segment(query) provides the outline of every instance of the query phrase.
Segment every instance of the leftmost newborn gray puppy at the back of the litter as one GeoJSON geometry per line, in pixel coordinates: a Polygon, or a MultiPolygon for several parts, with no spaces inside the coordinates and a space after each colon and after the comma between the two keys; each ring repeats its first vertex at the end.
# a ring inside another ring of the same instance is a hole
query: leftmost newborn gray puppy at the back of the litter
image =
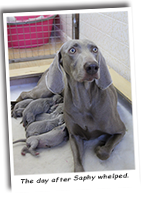
{"type": "Polygon", "coordinates": [[[33,99],[25,99],[23,101],[18,102],[11,111],[11,116],[15,119],[17,117],[22,117],[23,110],[28,106],[28,104],[33,101],[33,99]]]}

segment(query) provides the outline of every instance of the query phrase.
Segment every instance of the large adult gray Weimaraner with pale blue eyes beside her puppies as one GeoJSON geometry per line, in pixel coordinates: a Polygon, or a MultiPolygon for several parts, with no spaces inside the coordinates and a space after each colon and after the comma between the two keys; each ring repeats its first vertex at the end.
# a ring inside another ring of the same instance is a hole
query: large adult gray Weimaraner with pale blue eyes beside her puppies
{"type": "Polygon", "coordinates": [[[101,160],[106,160],[126,131],[117,112],[117,94],[105,59],[93,42],[66,42],[38,86],[29,93],[21,94],[18,100],[24,96],[39,98],[60,94],[63,90],[64,121],[69,132],[74,171],[81,172],[84,171],[85,140],[104,135],[104,140],[95,147],[95,153],[101,160]]]}

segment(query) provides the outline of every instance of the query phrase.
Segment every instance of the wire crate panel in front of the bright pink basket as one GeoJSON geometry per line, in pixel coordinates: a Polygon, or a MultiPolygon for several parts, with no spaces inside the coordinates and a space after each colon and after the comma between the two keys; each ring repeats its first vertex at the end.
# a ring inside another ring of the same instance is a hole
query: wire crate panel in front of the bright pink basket
{"type": "Polygon", "coordinates": [[[61,45],[73,38],[73,16],[7,17],[9,62],[53,58],[61,45]]]}

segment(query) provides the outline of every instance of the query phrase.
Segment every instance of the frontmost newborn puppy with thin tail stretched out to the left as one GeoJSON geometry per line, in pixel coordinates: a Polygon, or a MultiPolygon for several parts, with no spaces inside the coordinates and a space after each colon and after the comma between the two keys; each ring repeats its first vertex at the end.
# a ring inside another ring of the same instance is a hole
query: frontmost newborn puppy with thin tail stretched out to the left
{"type": "Polygon", "coordinates": [[[39,152],[35,151],[36,148],[55,147],[66,140],[68,140],[68,132],[64,123],[45,134],[31,136],[27,140],[17,140],[13,143],[26,142],[26,146],[23,147],[21,154],[31,153],[33,156],[36,156],[39,155],[39,152]]]}

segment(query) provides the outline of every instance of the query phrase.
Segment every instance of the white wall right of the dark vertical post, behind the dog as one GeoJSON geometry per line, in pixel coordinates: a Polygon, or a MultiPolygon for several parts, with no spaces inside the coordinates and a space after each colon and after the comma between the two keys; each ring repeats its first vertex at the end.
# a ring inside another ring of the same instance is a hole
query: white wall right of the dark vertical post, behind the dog
{"type": "Polygon", "coordinates": [[[130,81],[128,12],[80,14],[80,39],[99,46],[107,65],[130,81]]]}

